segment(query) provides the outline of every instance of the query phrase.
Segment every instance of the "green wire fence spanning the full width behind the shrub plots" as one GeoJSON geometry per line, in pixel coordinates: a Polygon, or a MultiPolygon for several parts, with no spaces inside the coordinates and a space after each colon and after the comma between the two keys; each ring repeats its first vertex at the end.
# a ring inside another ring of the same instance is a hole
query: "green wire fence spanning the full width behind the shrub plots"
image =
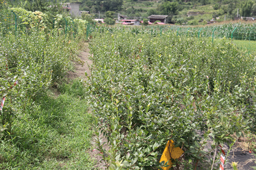
{"type": "MultiPolygon", "coordinates": [[[[41,13],[24,11],[13,11],[8,9],[1,11],[0,33],[3,35],[16,34],[17,32],[29,33],[31,28],[44,31],[57,30],[59,35],[66,38],[76,38],[84,34],[86,38],[93,31],[98,33],[108,30],[110,33],[118,27],[96,26],[96,23],[77,22],[71,17],[62,17],[57,15],[52,18],[46,18],[41,13]]],[[[187,27],[187,26],[142,26],[142,27],[120,27],[120,29],[130,29],[135,34],[148,33],[152,36],[162,35],[164,32],[175,32],[177,36],[212,38],[212,43],[218,42],[220,38],[226,37],[233,41],[238,48],[247,53],[256,52],[256,23],[230,23],[224,25],[215,25],[207,27],[187,27]]]]}

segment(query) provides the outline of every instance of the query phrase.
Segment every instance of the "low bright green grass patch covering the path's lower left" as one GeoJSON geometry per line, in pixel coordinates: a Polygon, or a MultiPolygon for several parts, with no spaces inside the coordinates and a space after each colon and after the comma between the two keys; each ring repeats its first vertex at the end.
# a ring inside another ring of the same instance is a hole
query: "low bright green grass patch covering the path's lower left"
{"type": "Polygon", "coordinates": [[[83,84],[75,80],[35,99],[15,119],[12,132],[0,140],[2,169],[94,169],[92,116],[83,84]]]}

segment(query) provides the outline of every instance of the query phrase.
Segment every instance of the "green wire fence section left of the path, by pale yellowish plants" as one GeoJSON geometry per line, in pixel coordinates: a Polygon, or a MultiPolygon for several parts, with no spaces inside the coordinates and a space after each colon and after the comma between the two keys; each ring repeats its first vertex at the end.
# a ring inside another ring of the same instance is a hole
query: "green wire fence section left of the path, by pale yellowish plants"
{"type": "MultiPolygon", "coordinates": [[[[20,9],[19,9],[20,10],[20,9]]],[[[92,33],[95,24],[89,23],[82,19],[73,20],[71,17],[63,17],[57,15],[47,18],[40,12],[30,12],[24,14],[24,11],[14,12],[11,9],[0,10],[0,34],[2,36],[8,34],[26,33],[32,30],[50,32],[56,30],[59,35],[66,38],[76,38],[77,35],[85,34],[88,38],[92,33]],[[83,22],[82,22],[83,21],[83,22]]]]}

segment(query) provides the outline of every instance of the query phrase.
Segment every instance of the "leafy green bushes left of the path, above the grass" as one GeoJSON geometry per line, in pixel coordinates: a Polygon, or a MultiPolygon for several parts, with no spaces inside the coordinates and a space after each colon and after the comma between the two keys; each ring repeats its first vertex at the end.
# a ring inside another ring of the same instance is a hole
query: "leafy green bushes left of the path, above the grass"
{"type": "Polygon", "coordinates": [[[31,30],[30,35],[0,36],[0,96],[6,96],[2,125],[4,129],[26,109],[36,95],[56,84],[75,59],[75,41],[66,41],[55,31],[51,34],[31,30]],[[11,88],[14,82],[18,84],[11,88]]]}

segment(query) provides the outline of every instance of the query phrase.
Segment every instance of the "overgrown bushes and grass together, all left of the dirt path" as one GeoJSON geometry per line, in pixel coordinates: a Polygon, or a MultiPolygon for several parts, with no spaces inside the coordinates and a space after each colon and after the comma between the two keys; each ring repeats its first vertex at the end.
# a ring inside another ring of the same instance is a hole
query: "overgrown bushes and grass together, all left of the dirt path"
{"type": "Polygon", "coordinates": [[[65,35],[62,15],[50,22],[48,14],[0,4],[1,169],[94,169],[83,82],[63,81],[79,61],[87,22],[74,19],[76,30],[65,35]]]}

